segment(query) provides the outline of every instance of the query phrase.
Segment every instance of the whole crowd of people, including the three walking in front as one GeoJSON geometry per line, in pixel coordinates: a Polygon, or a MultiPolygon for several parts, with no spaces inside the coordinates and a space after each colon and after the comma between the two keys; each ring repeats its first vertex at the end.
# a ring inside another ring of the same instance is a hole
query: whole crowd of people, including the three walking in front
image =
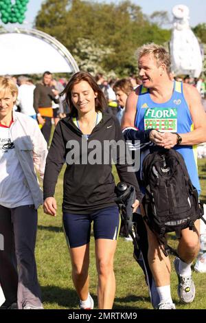
{"type": "MultiPolygon", "coordinates": [[[[185,159],[192,184],[200,193],[194,146],[206,142],[201,101],[205,87],[202,79],[196,83],[188,77],[174,79],[170,55],[159,45],[141,47],[138,66],[138,77],[108,82],[102,74],[93,78],[83,71],[73,74],[69,82],[55,80],[45,71],[36,86],[25,76],[18,78],[18,85],[7,76],[0,78],[0,234],[4,237],[0,283],[5,296],[1,309],[43,309],[34,256],[37,210],[43,204],[45,214],[57,215],[55,188],[65,163],[62,226],[79,306],[94,307],[88,274],[93,222],[98,308],[113,308],[113,260],[121,226],[113,162],[119,179],[135,188],[133,213],[141,221],[140,240],[142,237],[148,243],[144,272],[152,276],[148,283],[152,305],[175,309],[170,259],[142,219],[145,186],[141,165],[152,151],[173,148],[185,159]],[[55,131],[49,146],[52,120],[55,131]],[[131,171],[126,148],[127,141],[135,140],[140,142],[138,172],[131,171]],[[105,146],[106,142],[113,145],[105,146]],[[43,192],[36,170],[43,179],[43,192]]],[[[191,265],[199,247],[197,220],[195,230],[182,230],[174,260],[178,295],[185,304],[195,298],[191,265]]]]}

